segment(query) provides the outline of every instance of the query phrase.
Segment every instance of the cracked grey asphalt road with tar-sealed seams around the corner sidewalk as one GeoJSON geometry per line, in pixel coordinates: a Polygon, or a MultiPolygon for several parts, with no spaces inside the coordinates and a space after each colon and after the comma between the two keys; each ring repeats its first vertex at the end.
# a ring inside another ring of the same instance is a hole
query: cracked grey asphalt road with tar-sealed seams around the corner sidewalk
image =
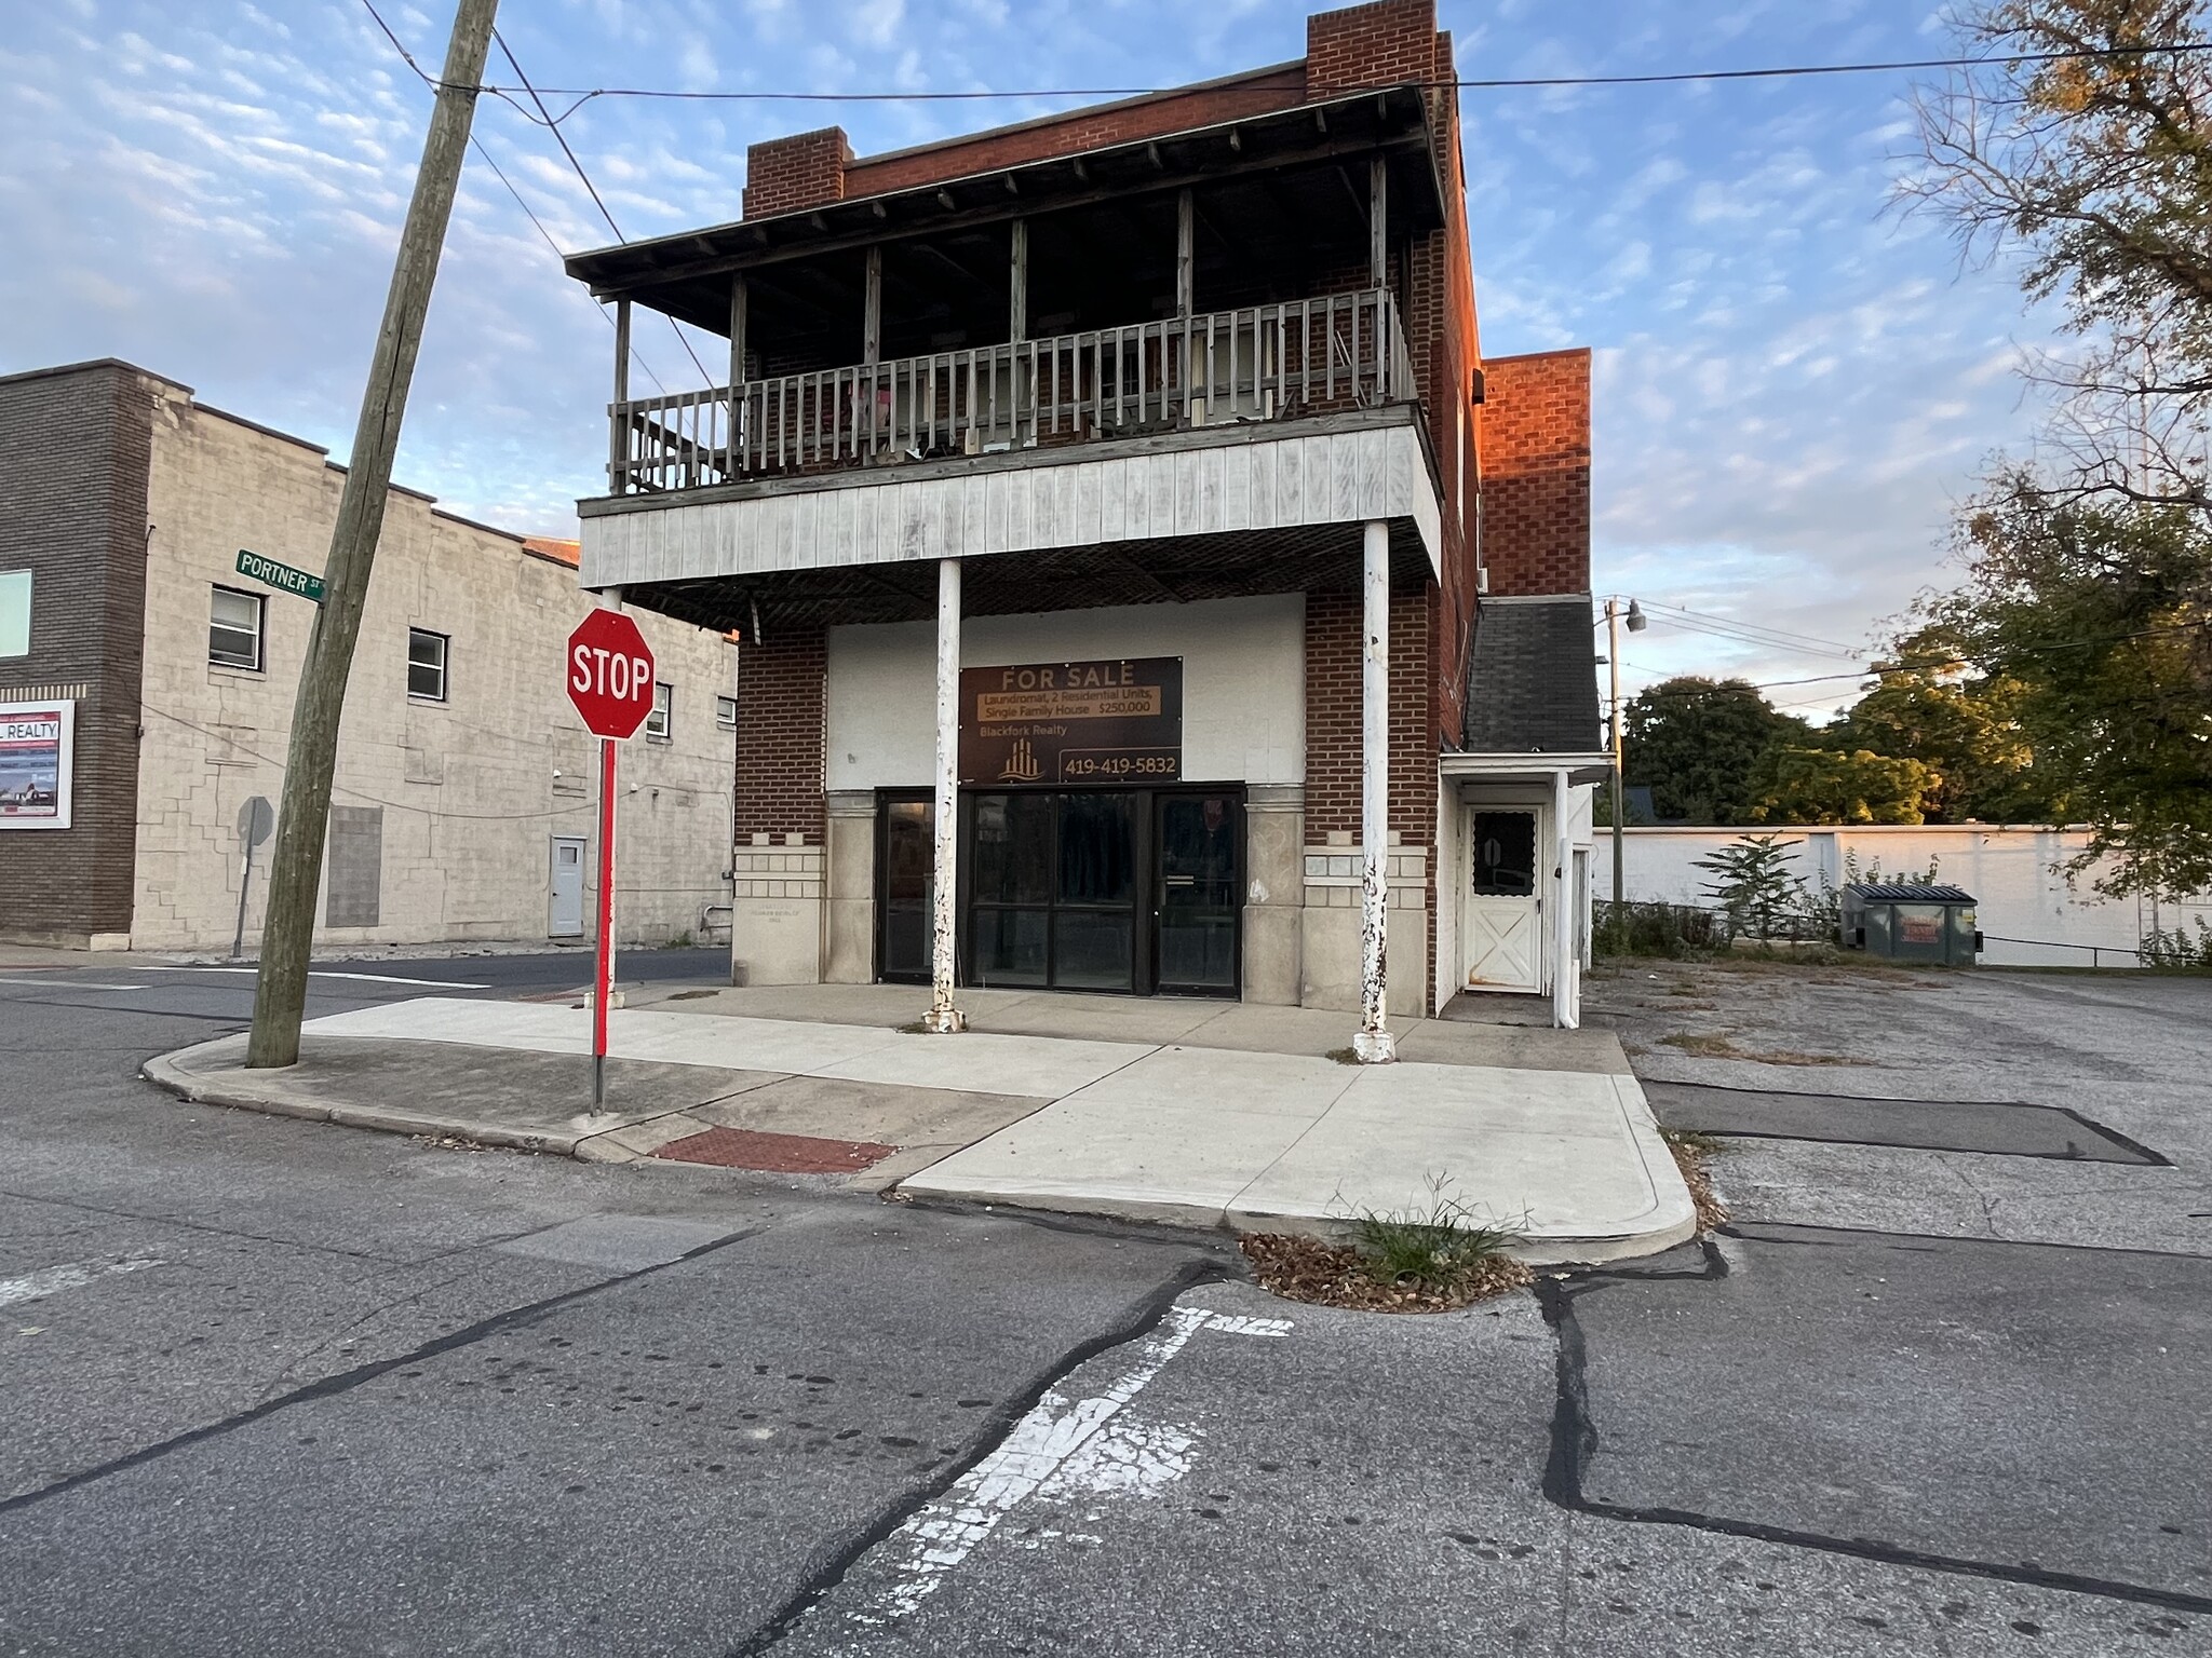
{"type": "Polygon", "coordinates": [[[0,1654],[2212,1651],[2201,1253],[1767,1214],[1334,1313],[1197,1236],[135,1079],[248,995],[0,968],[0,1654]]]}

